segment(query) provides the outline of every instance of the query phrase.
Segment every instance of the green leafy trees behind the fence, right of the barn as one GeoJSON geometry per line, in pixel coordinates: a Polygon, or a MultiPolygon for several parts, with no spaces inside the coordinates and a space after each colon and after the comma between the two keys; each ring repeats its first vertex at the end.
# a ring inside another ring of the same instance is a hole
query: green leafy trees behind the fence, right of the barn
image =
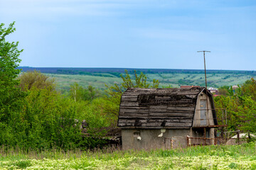
{"type": "MultiPolygon", "coordinates": [[[[256,82],[254,79],[245,81],[235,90],[228,89],[228,96],[214,98],[216,108],[227,111],[228,130],[244,130],[256,132],[256,82]]],[[[218,113],[219,123],[222,124],[222,114],[218,113]]],[[[225,120],[224,120],[225,122],[225,120]]]]}

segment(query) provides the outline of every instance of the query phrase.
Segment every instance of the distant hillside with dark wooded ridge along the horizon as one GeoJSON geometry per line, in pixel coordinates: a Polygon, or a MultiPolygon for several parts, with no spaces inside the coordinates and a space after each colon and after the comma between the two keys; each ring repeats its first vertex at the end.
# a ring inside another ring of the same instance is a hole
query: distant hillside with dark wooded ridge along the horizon
{"type": "MultiPolygon", "coordinates": [[[[120,74],[124,74],[125,68],[63,68],[63,67],[19,67],[23,72],[34,69],[54,78],[57,89],[68,91],[74,82],[80,86],[95,86],[98,89],[106,89],[105,84],[121,84],[120,74]]],[[[129,72],[134,79],[134,70],[146,74],[147,80],[151,82],[158,79],[159,87],[179,87],[181,85],[205,86],[203,69],[130,69],[129,72]]],[[[239,70],[207,70],[208,86],[233,86],[243,84],[247,79],[256,77],[256,71],[239,70]]]]}

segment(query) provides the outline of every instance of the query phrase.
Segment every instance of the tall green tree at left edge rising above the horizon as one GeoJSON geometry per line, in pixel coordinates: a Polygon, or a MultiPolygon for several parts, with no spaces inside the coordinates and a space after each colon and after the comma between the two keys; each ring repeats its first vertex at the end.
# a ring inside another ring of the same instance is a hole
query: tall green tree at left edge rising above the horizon
{"type": "Polygon", "coordinates": [[[17,67],[23,50],[18,50],[18,42],[6,41],[14,30],[14,23],[8,28],[0,24],[0,145],[15,143],[15,135],[22,131],[19,111],[26,94],[18,87],[16,78],[21,72],[17,67]]]}

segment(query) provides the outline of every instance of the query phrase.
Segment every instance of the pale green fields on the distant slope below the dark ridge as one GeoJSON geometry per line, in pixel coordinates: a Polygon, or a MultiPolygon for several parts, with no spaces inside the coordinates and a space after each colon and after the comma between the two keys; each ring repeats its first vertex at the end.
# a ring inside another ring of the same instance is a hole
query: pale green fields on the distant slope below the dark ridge
{"type": "MultiPolygon", "coordinates": [[[[106,89],[105,84],[120,84],[122,79],[118,75],[110,73],[101,73],[93,75],[80,74],[46,74],[50,78],[54,78],[57,83],[58,90],[68,90],[74,82],[80,86],[92,85],[97,89],[106,89]]],[[[181,85],[205,86],[204,74],[186,74],[186,73],[167,73],[167,74],[146,74],[148,81],[159,79],[160,88],[171,85],[179,87],[181,85]]],[[[247,79],[251,79],[254,75],[250,74],[207,74],[208,87],[233,86],[243,84],[247,79]]],[[[132,76],[134,78],[134,76],[132,76]]]]}

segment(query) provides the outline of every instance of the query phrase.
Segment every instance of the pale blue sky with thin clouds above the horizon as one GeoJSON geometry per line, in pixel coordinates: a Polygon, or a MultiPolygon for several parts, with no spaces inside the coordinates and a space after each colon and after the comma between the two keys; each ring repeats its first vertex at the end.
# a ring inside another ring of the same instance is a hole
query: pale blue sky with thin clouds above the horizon
{"type": "Polygon", "coordinates": [[[0,0],[20,66],[256,70],[255,0],[0,0]]]}

